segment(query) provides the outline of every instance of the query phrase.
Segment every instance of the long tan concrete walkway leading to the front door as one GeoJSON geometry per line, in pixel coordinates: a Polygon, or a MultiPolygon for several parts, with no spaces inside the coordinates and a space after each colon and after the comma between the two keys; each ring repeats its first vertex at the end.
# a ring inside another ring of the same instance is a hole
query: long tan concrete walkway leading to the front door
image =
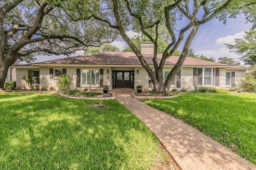
{"type": "Polygon", "coordinates": [[[155,133],[181,169],[256,169],[244,158],[177,118],[141,103],[131,95],[115,95],[155,133]]]}

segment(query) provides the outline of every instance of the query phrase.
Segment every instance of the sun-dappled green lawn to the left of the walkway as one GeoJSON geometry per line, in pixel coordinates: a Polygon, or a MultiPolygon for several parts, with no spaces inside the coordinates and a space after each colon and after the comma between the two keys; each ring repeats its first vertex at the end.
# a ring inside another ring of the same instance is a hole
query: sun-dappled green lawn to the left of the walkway
{"type": "Polygon", "coordinates": [[[0,169],[150,169],[167,159],[116,100],[6,92],[0,108],[0,169]]]}

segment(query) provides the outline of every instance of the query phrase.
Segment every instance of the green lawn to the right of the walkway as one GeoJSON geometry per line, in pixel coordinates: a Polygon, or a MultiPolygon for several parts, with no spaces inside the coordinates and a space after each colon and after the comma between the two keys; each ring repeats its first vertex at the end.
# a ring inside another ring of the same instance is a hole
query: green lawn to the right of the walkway
{"type": "Polygon", "coordinates": [[[256,94],[182,94],[145,99],[181,118],[256,165],[256,94]]]}

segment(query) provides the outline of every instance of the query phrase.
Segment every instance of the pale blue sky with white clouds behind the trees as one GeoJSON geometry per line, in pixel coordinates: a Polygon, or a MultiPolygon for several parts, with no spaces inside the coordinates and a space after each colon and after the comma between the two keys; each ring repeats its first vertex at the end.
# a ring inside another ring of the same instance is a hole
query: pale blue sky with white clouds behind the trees
{"type": "MultiPolygon", "coordinates": [[[[229,19],[226,24],[223,24],[217,19],[212,19],[211,21],[205,23],[199,29],[196,37],[194,38],[191,48],[195,50],[195,54],[205,55],[207,57],[232,57],[238,58],[235,53],[229,52],[224,43],[233,44],[235,38],[242,38],[244,36],[244,31],[247,31],[251,28],[250,23],[245,23],[243,15],[237,16],[236,19],[229,19]]],[[[137,35],[133,31],[128,31],[127,35],[130,38],[137,35]]],[[[123,39],[119,39],[112,43],[117,46],[119,49],[124,49],[127,47],[127,44],[123,39]]],[[[182,49],[182,45],[178,48],[182,49]]],[[[83,55],[82,51],[76,52],[72,56],[83,55]]],[[[67,56],[37,56],[37,61],[47,61],[54,60],[58,58],[64,58],[67,56]]]]}

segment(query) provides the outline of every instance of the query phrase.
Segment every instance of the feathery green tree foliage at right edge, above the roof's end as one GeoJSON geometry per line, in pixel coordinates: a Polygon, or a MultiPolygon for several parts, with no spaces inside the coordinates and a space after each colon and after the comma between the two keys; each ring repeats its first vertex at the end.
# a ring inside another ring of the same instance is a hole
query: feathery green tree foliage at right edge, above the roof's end
{"type": "Polygon", "coordinates": [[[226,46],[236,54],[242,55],[241,60],[246,65],[256,65],[256,29],[250,29],[245,34],[243,38],[235,40],[235,45],[226,44],[226,46]]]}

